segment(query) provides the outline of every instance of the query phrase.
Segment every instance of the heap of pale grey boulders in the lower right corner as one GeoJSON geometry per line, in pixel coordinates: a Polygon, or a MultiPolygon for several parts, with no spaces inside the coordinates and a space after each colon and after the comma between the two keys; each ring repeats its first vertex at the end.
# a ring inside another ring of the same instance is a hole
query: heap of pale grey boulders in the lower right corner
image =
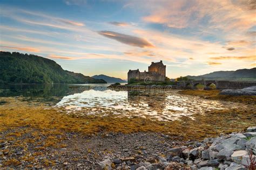
{"type": "Polygon", "coordinates": [[[188,142],[171,148],[165,155],[148,157],[139,162],[135,157],[105,159],[99,162],[105,169],[250,169],[256,167],[256,126],[245,133],[231,133],[201,142],[188,142]],[[164,157],[165,156],[165,157],[164,157]],[[118,163],[118,164],[117,164],[118,163]],[[117,164],[117,167],[116,167],[117,164]]]}

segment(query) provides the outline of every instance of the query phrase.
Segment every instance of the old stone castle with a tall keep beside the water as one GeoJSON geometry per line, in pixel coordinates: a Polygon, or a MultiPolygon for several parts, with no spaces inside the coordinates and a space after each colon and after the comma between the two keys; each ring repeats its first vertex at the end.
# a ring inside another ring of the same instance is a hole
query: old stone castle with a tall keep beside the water
{"type": "Polygon", "coordinates": [[[152,62],[149,66],[149,71],[140,72],[139,69],[129,70],[128,72],[128,82],[131,79],[136,80],[146,80],[149,79],[151,81],[165,81],[165,69],[166,66],[163,64],[163,61],[160,62],[152,62]]]}

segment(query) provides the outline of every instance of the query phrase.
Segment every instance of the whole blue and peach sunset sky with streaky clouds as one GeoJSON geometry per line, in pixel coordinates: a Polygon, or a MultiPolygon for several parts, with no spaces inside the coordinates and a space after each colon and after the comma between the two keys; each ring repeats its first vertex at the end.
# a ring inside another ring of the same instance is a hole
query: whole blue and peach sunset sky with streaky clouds
{"type": "Polygon", "coordinates": [[[0,0],[0,50],[127,79],[163,60],[166,76],[256,67],[255,0],[0,0]]]}

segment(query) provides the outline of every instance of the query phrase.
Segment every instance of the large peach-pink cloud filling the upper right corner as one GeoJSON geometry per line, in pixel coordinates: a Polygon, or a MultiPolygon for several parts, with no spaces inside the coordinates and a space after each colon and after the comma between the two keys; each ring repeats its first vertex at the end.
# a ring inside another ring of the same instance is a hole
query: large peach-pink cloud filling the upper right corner
{"type": "MultiPolygon", "coordinates": [[[[220,31],[247,31],[255,25],[255,0],[248,1],[129,1],[128,8],[140,8],[148,15],[147,23],[163,24],[175,29],[197,28],[218,34],[220,31]]],[[[218,34],[219,36],[219,34],[218,34]]]]}

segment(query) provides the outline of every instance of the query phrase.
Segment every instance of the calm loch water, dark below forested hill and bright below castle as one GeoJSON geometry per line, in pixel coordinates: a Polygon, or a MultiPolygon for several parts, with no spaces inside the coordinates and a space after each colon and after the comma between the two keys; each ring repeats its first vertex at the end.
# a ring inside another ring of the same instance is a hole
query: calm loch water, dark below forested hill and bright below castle
{"type": "MultiPolygon", "coordinates": [[[[140,116],[161,121],[247,105],[178,94],[178,90],[115,91],[109,84],[27,84],[0,86],[0,97],[65,108],[78,115],[140,116]]],[[[4,101],[2,101],[4,103],[4,101]]],[[[1,103],[0,103],[1,104],[1,103]]],[[[192,117],[193,118],[193,117],[192,117]]]]}

